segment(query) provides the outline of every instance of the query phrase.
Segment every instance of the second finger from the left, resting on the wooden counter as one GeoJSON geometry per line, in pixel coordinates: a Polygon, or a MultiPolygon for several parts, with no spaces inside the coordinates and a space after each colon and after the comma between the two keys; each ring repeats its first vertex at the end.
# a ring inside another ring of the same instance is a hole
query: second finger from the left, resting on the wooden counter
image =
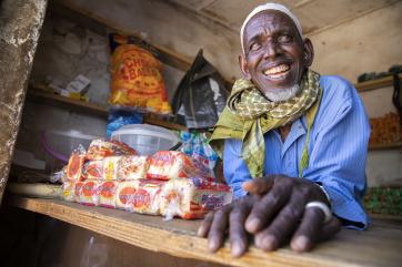
{"type": "Polygon", "coordinates": [[[217,251],[223,245],[225,230],[229,223],[230,208],[224,207],[214,213],[212,224],[208,234],[208,249],[217,251]]]}

